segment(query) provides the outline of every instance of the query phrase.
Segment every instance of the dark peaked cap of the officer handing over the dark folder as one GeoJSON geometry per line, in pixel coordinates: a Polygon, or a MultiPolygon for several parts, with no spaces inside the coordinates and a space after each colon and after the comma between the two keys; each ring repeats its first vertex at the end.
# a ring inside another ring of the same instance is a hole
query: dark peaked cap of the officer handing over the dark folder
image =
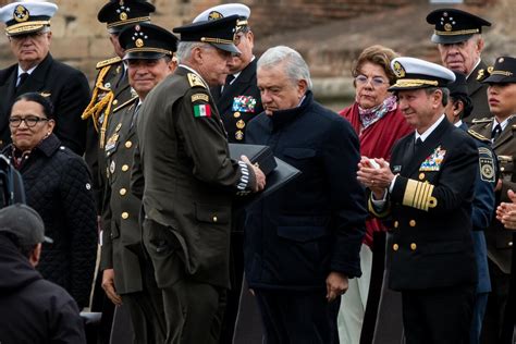
{"type": "Polygon", "coordinates": [[[241,53],[235,46],[235,33],[238,15],[230,15],[217,21],[192,23],[174,27],[181,35],[181,41],[201,41],[232,53],[241,53]]]}

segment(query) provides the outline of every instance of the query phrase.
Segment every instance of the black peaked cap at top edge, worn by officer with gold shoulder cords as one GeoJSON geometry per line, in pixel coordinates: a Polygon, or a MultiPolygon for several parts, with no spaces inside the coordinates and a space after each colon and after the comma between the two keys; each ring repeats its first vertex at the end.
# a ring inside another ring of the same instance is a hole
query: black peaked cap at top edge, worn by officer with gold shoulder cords
{"type": "Polygon", "coordinates": [[[100,9],[97,19],[107,24],[110,34],[119,34],[127,26],[150,22],[155,11],[155,5],[147,1],[111,0],[100,9]]]}

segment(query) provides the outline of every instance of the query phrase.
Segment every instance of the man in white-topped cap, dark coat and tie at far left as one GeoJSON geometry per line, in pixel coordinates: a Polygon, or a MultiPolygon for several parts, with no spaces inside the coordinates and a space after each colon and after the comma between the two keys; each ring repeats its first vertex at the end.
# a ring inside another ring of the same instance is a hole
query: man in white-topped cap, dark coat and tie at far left
{"type": "Polygon", "coordinates": [[[50,19],[58,7],[41,1],[13,2],[0,10],[17,63],[0,71],[0,147],[11,143],[9,111],[13,100],[37,91],[50,97],[56,113],[54,133],[64,146],[83,155],[86,125],[81,114],[89,99],[86,76],[50,54],[50,19]]]}

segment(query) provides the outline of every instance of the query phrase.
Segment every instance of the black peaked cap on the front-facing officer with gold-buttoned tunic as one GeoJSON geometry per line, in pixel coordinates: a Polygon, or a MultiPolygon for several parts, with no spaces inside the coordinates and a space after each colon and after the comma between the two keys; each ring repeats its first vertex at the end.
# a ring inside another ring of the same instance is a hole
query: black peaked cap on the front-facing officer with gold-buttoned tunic
{"type": "Polygon", "coordinates": [[[177,37],[171,32],[150,23],[136,24],[124,28],[120,33],[119,41],[125,50],[124,60],[157,60],[165,56],[172,58],[177,50],[177,37]]]}

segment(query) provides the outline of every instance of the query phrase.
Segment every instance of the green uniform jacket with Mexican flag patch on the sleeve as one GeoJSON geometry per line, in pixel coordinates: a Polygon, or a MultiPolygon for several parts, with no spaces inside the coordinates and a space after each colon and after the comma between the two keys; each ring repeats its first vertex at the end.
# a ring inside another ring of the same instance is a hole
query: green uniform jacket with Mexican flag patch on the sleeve
{"type": "Polygon", "coordinates": [[[230,159],[216,105],[194,70],[180,65],[140,111],[132,188],[143,195],[146,218],[168,229],[146,242],[158,286],[177,277],[157,262],[179,257],[192,279],[228,287],[232,201],[249,192],[254,172],[230,159]],[[170,237],[174,249],[163,250],[170,237]]]}

